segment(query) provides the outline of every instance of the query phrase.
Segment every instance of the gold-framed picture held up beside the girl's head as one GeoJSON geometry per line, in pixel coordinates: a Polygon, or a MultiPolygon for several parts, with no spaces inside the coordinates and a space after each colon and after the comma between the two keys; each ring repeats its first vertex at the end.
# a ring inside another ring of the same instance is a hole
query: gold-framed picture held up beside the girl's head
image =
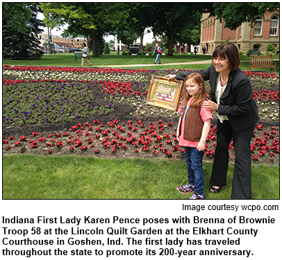
{"type": "Polygon", "coordinates": [[[183,85],[183,80],[168,81],[167,78],[152,76],[146,103],[177,111],[183,85]]]}

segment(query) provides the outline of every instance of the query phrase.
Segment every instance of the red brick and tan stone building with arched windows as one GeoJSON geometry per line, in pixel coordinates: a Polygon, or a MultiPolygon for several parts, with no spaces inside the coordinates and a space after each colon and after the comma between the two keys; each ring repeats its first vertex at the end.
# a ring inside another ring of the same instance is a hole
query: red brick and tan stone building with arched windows
{"type": "Polygon", "coordinates": [[[267,10],[263,17],[256,19],[253,26],[243,23],[235,31],[224,28],[224,21],[220,23],[215,17],[210,17],[208,13],[203,14],[200,50],[205,46],[206,53],[211,54],[219,44],[229,40],[243,53],[250,49],[260,50],[265,54],[267,44],[272,43],[276,48],[279,46],[279,14],[279,10],[274,12],[267,10]]]}

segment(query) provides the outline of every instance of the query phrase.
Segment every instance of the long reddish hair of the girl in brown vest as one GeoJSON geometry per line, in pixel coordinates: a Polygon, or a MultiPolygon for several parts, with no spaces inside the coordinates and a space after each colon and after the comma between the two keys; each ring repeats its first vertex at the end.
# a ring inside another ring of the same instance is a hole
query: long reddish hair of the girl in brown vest
{"type": "MultiPolygon", "coordinates": [[[[194,101],[190,105],[190,107],[197,107],[199,105],[199,103],[204,101],[206,98],[209,98],[208,95],[206,94],[204,77],[201,76],[200,73],[196,72],[196,73],[191,73],[190,75],[188,75],[184,80],[184,84],[186,83],[187,80],[192,80],[194,83],[198,84],[199,87],[200,87],[199,91],[197,92],[197,94],[194,98],[194,101]]],[[[191,95],[189,94],[189,92],[187,91],[187,89],[185,87],[183,104],[186,104],[188,102],[189,98],[191,98],[191,95]]]]}

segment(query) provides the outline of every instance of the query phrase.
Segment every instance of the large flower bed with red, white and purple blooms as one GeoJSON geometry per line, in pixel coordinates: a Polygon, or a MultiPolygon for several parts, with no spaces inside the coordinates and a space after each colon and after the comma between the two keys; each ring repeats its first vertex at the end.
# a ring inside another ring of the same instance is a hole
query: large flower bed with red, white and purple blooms
{"type": "MultiPolygon", "coordinates": [[[[168,73],[176,71],[3,65],[3,154],[183,159],[175,136],[178,114],[145,103],[151,76],[168,73]]],[[[278,165],[279,77],[245,73],[260,114],[253,162],[278,165]]],[[[207,161],[216,146],[215,118],[207,161]]],[[[232,144],[229,155],[234,162],[232,144]]]]}

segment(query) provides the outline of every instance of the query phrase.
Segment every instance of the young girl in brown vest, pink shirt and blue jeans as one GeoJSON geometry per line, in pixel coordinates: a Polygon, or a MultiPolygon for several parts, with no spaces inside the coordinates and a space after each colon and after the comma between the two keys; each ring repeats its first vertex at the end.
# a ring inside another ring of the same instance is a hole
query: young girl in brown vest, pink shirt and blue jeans
{"type": "Polygon", "coordinates": [[[193,192],[192,200],[204,199],[203,156],[206,138],[210,130],[211,111],[203,106],[207,98],[204,78],[200,73],[192,73],[184,80],[185,94],[179,107],[177,139],[185,148],[188,166],[188,184],[178,187],[181,193],[193,192]]]}

